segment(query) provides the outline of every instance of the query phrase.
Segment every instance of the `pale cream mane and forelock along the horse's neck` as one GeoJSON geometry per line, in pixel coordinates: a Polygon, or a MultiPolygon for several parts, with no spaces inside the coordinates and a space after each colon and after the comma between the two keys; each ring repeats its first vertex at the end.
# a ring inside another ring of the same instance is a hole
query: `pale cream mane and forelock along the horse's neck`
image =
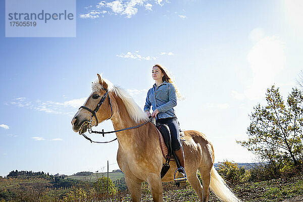
{"type": "MultiPolygon", "coordinates": [[[[124,103],[124,106],[126,108],[126,111],[129,115],[129,117],[138,124],[140,121],[147,121],[148,117],[146,114],[142,111],[142,109],[135,103],[133,98],[129,95],[128,92],[126,92],[124,89],[122,89],[119,86],[114,86],[110,81],[103,78],[103,80],[108,85],[109,92],[114,92],[116,96],[120,97],[122,99],[122,102],[124,103]]],[[[99,83],[98,80],[93,82],[91,84],[92,91],[99,92],[104,87],[99,83]]]]}

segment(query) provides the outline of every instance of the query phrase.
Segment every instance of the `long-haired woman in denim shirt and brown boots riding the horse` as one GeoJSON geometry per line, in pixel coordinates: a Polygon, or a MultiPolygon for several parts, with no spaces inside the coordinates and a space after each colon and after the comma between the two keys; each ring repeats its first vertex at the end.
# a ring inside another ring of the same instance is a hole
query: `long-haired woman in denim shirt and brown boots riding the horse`
{"type": "Polygon", "coordinates": [[[178,171],[181,176],[179,176],[184,178],[186,177],[184,153],[182,144],[180,143],[178,120],[173,108],[177,105],[177,97],[181,98],[182,96],[164,67],[155,65],[151,73],[156,83],[147,92],[144,112],[148,117],[156,117],[157,123],[168,125],[171,133],[172,148],[180,163],[178,171]],[[149,110],[151,105],[153,106],[153,113],[150,115],[149,110]]]}

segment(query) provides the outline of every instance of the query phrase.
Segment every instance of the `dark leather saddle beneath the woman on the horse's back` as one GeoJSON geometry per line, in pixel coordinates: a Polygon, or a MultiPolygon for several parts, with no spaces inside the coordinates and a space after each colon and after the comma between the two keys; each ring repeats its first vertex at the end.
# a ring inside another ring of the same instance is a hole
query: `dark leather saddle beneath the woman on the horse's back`
{"type": "MultiPolygon", "coordinates": [[[[176,158],[175,158],[174,151],[172,149],[171,135],[170,135],[169,127],[166,124],[158,124],[158,123],[155,126],[157,128],[157,132],[158,132],[158,136],[159,136],[162,155],[166,161],[165,164],[163,164],[162,170],[161,170],[161,178],[163,178],[165,176],[165,174],[168,172],[168,170],[170,169],[169,162],[171,160],[176,160],[176,158]]],[[[184,136],[183,131],[180,131],[180,137],[181,137],[181,134],[183,134],[183,136],[184,136]]],[[[184,139],[180,139],[180,140],[185,141],[184,139]]]]}

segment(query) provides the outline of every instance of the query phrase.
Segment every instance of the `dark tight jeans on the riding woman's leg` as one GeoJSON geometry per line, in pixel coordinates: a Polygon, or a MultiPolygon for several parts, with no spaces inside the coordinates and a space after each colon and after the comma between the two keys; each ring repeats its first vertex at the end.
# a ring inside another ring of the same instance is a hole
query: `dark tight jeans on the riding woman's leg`
{"type": "Polygon", "coordinates": [[[168,125],[172,139],[172,148],[174,151],[179,150],[181,148],[181,143],[177,117],[157,119],[156,122],[168,125]]]}

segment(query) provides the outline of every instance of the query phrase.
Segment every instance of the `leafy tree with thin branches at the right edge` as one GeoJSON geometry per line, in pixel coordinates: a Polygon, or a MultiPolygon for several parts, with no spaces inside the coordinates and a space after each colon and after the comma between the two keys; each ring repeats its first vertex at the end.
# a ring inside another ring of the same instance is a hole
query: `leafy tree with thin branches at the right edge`
{"type": "Polygon", "coordinates": [[[287,98],[287,107],[279,88],[267,89],[267,106],[258,104],[249,116],[248,140],[237,141],[262,160],[269,161],[277,173],[279,164],[290,162],[301,169],[302,164],[302,115],[303,95],[297,88],[287,98]]]}

